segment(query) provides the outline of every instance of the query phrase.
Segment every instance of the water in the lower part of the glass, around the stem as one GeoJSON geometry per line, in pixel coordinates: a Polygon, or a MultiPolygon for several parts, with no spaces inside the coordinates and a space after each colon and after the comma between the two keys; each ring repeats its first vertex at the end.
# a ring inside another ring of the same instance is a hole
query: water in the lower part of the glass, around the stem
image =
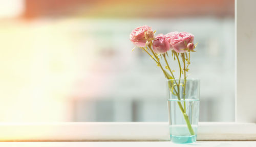
{"type": "Polygon", "coordinates": [[[174,143],[196,142],[199,117],[199,100],[185,99],[185,101],[179,101],[169,99],[167,102],[170,140],[174,143]],[[184,118],[181,106],[188,117],[189,123],[187,123],[184,118]],[[188,129],[188,124],[190,125],[190,130],[188,129]]]}

